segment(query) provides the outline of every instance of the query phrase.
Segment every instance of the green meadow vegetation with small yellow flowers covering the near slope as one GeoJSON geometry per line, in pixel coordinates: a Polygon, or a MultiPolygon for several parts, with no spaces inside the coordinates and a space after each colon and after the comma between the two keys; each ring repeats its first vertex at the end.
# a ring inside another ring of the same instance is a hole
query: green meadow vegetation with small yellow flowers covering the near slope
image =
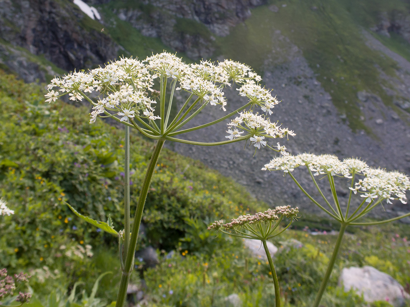
{"type": "MultiPolygon", "coordinates": [[[[121,278],[112,248],[116,238],[82,222],[63,201],[97,219],[110,214],[116,230],[122,228],[123,131],[103,121],[88,124],[84,108],[44,104],[39,86],[5,74],[0,81],[0,193],[15,210],[10,217],[0,216],[0,266],[32,275],[34,299],[28,307],[106,306],[115,300],[121,278]],[[112,273],[102,276],[105,272],[112,273]]],[[[133,205],[153,143],[135,135],[131,141],[133,205]]],[[[143,273],[149,305],[219,306],[238,293],[244,306],[272,306],[266,262],[252,257],[240,239],[215,237],[206,229],[215,219],[264,208],[232,180],[164,149],[146,203],[146,234],[139,242],[160,254],[159,266],[143,273]],[[168,251],[174,255],[163,257],[168,251]]],[[[301,214],[306,218],[295,223],[296,229],[333,229],[329,221],[301,214]]],[[[353,230],[342,244],[324,305],[367,306],[337,286],[346,266],[371,265],[405,287],[410,284],[408,225],[348,229],[353,230]]],[[[335,239],[288,230],[273,242],[281,251],[274,262],[285,306],[312,304],[335,239]]],[[[142,264],[136,262],[139,268],[142,264]]],[[[140,284],[138,275],[132,275],[133,284],[140,284]]]]}

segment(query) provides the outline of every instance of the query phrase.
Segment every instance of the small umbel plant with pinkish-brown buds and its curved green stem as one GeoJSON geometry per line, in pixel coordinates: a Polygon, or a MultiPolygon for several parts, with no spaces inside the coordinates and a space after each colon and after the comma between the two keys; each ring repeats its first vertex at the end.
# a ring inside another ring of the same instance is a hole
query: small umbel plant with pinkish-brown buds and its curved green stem
{"type": "Polygon", "coordinates": [[[215,221],[208,230],[216,230],[234,237],[260,240],[263,244],[266,257],[268,258],[269,267],[271,269],[273,285],[275,287],[275,306],[280,307],[280,288],[278,276],[276,275],[275,266],[271,253],[269,252],[266,241],[280,235],[292,224],[299,213],[298,208],[290,208],[290,206],[280,206],[274,209],[268,209],[265,212],[258,212],[255,215],[241,215],[237,219],[232,219],[229,223],[224,224],[223,220],[215,221]],[[287,226],[278,230],[278,226],[283,217],[289,219],[287,226]]]}

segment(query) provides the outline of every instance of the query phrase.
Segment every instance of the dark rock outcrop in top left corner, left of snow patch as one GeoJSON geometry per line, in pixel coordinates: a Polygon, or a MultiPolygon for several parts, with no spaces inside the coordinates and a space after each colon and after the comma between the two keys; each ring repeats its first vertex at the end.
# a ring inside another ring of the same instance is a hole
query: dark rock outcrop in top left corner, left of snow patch
{"type": "MultiPolygon", "coordinates": [[[[0,0],[0,7],[2,50],[25,48],[33,56],[40,56],[66,71],[96,66],[117,55],[119,46],[100,32],[103,26],[72,2],[0,0]]],[[[10,56],[1,52],[2,63],[7,65],[13,61],[13,54],[10,56]]],[[[35,61],[29,54],[25,62],[35,61]]],[[[25,65],[25,69],[30,70],[30,65],[25,65]]],[[[24,77],[19,65],[10,68],[24,77]]],[[[35,69],[32,70],[35,74],[35,69]]],[[[38,77],[46,81],[41,75],[38,77]]]]}

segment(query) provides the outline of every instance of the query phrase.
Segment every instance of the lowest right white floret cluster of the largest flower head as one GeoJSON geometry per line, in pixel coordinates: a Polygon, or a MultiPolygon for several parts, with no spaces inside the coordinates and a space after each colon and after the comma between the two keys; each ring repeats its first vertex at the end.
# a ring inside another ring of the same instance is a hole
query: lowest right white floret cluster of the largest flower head
{"type": "MultiPolygon", "coordinates": [[[[244,131],[247,131],[248,135],[252,135],[250,140],[253,146],[260,149],[260,147],[265,147],[267,144],[266,141],[264,141],[265,137],[284,138],[285,136],[295,135],[292,130],[281,128],[280,126],[278,122],[271,122],[269,117],[254,114],[251,111],[244,111],[239,113],[239,116],[228,124],[229,130],[227,132],[229,135],[225,136],[225,138],[233,140],[241,136],[244,131]],[[239,131],[239,129],[243,130],[239,131]]],[[[278,148],[277,151],[280,151],[283,155],[287,155],[288,153],[285,151],[286,147],[280,146],[279,143],[277,144],[278,146],[274,146],[278,148]]]]}

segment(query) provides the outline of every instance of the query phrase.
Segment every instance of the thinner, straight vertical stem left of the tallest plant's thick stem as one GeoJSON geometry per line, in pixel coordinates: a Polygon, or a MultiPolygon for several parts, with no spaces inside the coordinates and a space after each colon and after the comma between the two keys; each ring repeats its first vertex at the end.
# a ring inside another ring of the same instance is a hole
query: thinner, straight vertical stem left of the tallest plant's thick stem
{"type": "MultiPolygon", "coordinates": [[[[125,126],[125,161],[124,161],[124,255],[130,245],[130,127],[125,126]]],[[[121,251],[120,251],[121,253],[121,251]]]]}

